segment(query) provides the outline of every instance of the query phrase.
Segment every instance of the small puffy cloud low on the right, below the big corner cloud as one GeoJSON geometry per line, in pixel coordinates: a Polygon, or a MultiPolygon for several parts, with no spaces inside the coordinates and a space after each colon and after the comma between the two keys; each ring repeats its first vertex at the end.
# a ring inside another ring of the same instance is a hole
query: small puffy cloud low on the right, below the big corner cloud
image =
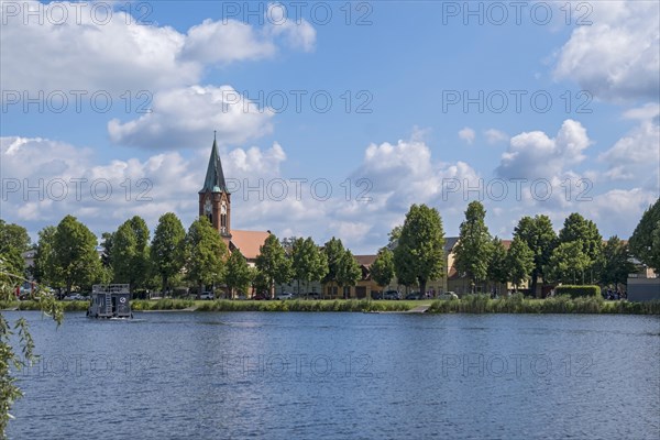
{"type": "Polygon", "coordinates": [[[566,167],[584,161],[583,152],[590,144],[584,127],[568,119],[554,138],[541,131],[524,132],[512,138],[495,172],[509,178],[561,176],[566,167]]]}

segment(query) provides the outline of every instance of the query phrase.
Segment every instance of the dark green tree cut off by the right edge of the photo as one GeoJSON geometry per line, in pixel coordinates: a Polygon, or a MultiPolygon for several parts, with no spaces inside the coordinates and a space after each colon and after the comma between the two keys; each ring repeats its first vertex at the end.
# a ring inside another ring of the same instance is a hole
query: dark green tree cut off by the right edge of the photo
{"type": "Polygon", "coordinates": [[[660,272],[660,199],[644,212],[629,245],[641,263],[660,272]]]}

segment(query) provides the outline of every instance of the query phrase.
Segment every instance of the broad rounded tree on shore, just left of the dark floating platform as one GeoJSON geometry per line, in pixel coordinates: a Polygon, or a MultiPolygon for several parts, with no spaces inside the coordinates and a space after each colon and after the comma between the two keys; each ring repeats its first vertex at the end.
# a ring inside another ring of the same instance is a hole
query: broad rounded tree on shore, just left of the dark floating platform
{"type": "Polygon", "coordinates": [[[51,264],[56,282],[72,292],[74,285],[89,286],[99,279],[101,260],[97,238],[73,216],[66,216],[55,230],[51,264]]]}

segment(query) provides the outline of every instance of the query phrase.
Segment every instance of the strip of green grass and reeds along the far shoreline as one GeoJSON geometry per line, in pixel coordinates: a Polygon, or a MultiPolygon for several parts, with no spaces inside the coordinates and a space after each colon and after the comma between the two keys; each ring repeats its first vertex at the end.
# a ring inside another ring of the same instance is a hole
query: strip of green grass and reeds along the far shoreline
{"type": "MultiPolygon", "coordinates": [[[[87,301],[63,301],[65,311],[85,311],[87,301]]],[[[283,300],[252,301],[227,300],[199,301],[191,299],[136,299],[131,301],[134,311],[183,310],[197,311],[406,311],[430,304],[431,314],[628,314],[660,315],[660,301],[628,302],[606,301],[601,297],[574,298],[561,296],[547,299],[526,299],[522,295],[491,299],[485,295],[466,296],[454,300],[283,300]]],[[[35,301],[0,301],[0,309],[37,310],[35,301]]]]}

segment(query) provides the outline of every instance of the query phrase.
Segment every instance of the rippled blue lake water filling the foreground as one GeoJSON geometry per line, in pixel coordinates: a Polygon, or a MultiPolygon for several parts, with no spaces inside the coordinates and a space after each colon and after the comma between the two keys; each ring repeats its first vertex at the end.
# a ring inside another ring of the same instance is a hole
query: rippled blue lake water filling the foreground
{"type": "Polygon", "coordinates": [[[658,317],[23,315],[11,439],[660,438],[658,317]]]}

